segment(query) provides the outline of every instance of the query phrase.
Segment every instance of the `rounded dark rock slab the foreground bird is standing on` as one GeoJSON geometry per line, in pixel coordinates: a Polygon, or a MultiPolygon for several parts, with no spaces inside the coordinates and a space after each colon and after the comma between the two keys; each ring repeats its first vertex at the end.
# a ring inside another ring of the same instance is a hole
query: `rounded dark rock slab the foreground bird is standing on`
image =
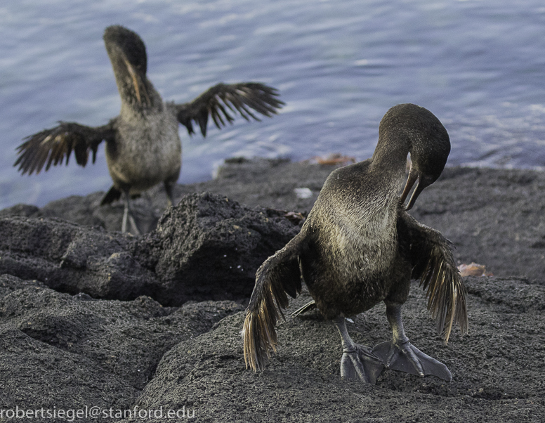
{"type": "MultiPolygon", "coordinates": [[[[376,386],[343,381],[341,338],[317,313],[280,325],[277,355],[263,373],[250,372],[237,332],[244,313],[237,313],[166,353],[137,403],[148,409],[185,406],[201,422],[542,421],[545,287],[498,278],[467,282],[471,332],[464,337],[454,332],[447,346],[416,284],[404,308],[411,341],[442,360],[453,382],[393,370],[383,372],[376,386]]],[[[292,307],[309,299],[302,295],[292,307]]],[[[358,315],[348,330],[368,346],[390,339],[386,307],[358,315]]]]}

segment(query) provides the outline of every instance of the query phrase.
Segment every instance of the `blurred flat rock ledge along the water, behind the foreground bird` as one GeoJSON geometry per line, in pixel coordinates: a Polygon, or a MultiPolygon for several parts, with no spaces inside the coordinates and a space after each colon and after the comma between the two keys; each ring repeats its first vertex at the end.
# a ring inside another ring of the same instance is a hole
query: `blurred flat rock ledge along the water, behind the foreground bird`
{"type": "MultiPolygon", "coordinates": [[[[308,212],[334,167],[287,160],[231,159],[211,181],[177,186],[175,197],[197,192],[225,195],[249,207],[308,212]],[[296,188],[308,188],[298,198],[296,188]]],[[[501,276],[544,280],[545,173],[522,169],[446,168],[416,202],[412,215],[440,230],[457,249],[459,262],[485,264],[501,276]]],[[[42,209],[18,205],[2,214],[57,216],[83,225],[119,230],[123,206],[98,207],[101,193],[69,197],[42,209]],[[79,199],[79,203],[78,203],[79,199]],[[81,205],[77,205],[81,204],[81,205]],[[94,205],[92,205],[94,204],[94,205]]],[[[158,216],[166,196],[162,188],[136,200],[140,214],[158,216]]],[[[151,218],[150,218],[151,219],[151,218]]]]}

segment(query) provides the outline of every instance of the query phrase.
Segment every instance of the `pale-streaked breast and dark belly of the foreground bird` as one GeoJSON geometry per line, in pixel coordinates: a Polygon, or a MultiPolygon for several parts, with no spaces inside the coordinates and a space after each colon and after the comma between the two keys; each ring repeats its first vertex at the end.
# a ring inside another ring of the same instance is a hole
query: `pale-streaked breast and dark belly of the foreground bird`
{"type": "Polygon", "coordinates": [[[354,207],[352,202],[346,210],[344,202],[336,201],[336,207],[324,204],[309,215],[307,230],[315,241],[301,267],[310,293],[327,318],[361,313],[388,295],[398,259],[397,209],[383,200],[385,204],[372,208],[354,207]]]}

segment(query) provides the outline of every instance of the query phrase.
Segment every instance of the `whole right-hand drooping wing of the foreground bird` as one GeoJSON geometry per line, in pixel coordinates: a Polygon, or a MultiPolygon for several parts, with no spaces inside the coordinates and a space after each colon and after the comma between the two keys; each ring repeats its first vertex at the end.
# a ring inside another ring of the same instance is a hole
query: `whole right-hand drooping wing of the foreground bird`
{"type": "Polygon", "coordinates": [[[426,289],[428,310],[447,343],[456,323],[462,333],[468,332],[466,286],[452,256],[452,242],[405,211],[400,214],[400,224],[409,233],[412,278],[426,289]]]}

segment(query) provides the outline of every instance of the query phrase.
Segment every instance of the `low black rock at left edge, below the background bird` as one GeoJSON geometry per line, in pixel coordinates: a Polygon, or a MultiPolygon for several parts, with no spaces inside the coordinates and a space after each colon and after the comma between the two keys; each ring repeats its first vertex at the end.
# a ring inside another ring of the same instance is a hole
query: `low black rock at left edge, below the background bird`
{"type": "Polygon", "coordinates": [[[0,233],[0,273],[107,299],[135,299],[155,282],[129,254],[129,235],[20,216],[0,218],[0,233]]]}

